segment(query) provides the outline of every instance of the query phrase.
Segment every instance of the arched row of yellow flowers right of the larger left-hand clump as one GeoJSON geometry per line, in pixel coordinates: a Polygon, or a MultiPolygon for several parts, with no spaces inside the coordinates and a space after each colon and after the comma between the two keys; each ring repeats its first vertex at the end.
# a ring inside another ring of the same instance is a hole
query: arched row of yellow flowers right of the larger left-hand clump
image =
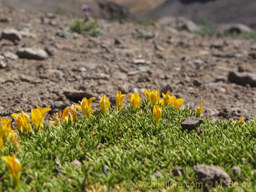
{"type": "MultiPolygon", "coordinates": [[[[179,110],[181,105],[184,102],[184,99],[176,99],[175,96],[171,96],[169,91],[167,91],[166,94],[162,93],[163,99],[160,99],[159,91],[153,90],[152,92],[148,89],[144,91],[146,99],[148,99],[152,105],[153,105],[153,118],[155,122],[159,122],[162,116],[162,106],[173,106],[175,109],[179,110]]],[[[116,93],[116,109],[117,111],[120,110],[125,94],[121,94],[121,92],[116,93]]],[[[129,95],[131,105],[133,106],[134,110],[137,111],[139,108],[141,98],[139,93],[130,93],[129,95]]],[[[86,118],[91,117],[91,107],[92,107],[92,101],[95,100],[95,97],[91,97],[90,99],[87,99],[84,97],[82,101],[79,101],[80,105],[72,105],[68,106],[63,112],[59,112],[53,115],[54,121],[50,121],[51,125],[60,125],[61,119],[67,123],[69,122],[76,122],[77,120],[77,113],[76,109],[80,109],[86,118]]],[[[110,108],[110,100],[106,95],[103,95],[103,97],[100,97],[100,113],[104,115],[106,112],[108,112],[110,108]]],[[[202,113],[202,100],[201,100],[201,106],[200,108],[197,108],[197,117],[200,117],[200,114],[202,113]]]]}

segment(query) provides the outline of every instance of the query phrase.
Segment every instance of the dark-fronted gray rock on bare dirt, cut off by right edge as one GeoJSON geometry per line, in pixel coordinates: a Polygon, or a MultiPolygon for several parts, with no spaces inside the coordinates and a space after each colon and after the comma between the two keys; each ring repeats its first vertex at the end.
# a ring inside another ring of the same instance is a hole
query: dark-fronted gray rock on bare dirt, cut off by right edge
{"type": "Polygon", "coordinates": [[[233,72],[228,73],[228,80],[230,82],[246,86],[249,84],[251,87],[256,87],[256,74],[247,72],[233,72]]]}

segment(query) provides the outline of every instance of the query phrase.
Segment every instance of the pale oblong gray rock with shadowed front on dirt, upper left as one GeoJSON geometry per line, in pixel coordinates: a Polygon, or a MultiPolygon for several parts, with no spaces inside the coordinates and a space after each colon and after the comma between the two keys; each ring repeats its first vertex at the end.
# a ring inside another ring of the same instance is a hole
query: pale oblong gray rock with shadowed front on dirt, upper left
{"type": "Polygon", "coordinates": [[[19,58],[44,60],[48,58],[45,50],[39,48],[20,48],[16,53],[19,58]]]}

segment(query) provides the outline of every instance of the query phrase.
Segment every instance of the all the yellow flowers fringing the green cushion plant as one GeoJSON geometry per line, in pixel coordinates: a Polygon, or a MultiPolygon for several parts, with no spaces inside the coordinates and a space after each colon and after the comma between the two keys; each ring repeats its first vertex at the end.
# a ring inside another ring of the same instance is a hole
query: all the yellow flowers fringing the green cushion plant
{"type": "MultiPolygon", "coordinates": [[[[162,108],[163,106],[173,106],[176,110],[179,110],[181,105],[184,102],[184,99],[176,99],[175,96],[171,96],[167,91],[166,94],[162,93],[163,99],[160,99],[159,91],[157,90],[145,90],[144,91],[146,99],[152,103],[152,116],[155,122],[159,122],[162,117],[162,108]]],[[[121,92],[116,93],[116,110],[117,112],[121,109],[123,104],[125,94],[121,94],[121,92]]],[[[133,106],[135,112],[139,108],[141,98],[139,93],[130,93],[129,95],[131,105],[133,106]]],[[[75,123],[77,121],[77,112],[79,109],[82,111],[84,117],[90,118],[92,116],[91,107],[92,101],[95,100],[95,97],[87,99],[86,97],[79,101],[80,105],[71,105],[68,106],[63,112],[55,113],[52,115],[54,121],[49,121],[50,125],[59,126],[61,119],[66,123],[75,123]]],[[[110,100],[106,95],[100,97],[100,113],[102,115],[106,114],[110,108],[110,100]]],[[[40,106],[37,106],[36,109],[31,110],[31,120],[33,126],[30,123],[30,114],[24,113],[24,111],[20,111],[20,114],[12,114],[11,117],[15,118],[15,126],[16,130],[20,133],[29,133],[32,131],[32,127],[34,130],[44,130],[44,119],[45,114],[51,111],[50,108],[42,109],[40,106]]],[[[202,113],[202,99],[200,108],[196,110],[196,116],[200,117],[202,113]]],[[[12,143],[17,152],[20,151],[18,136],[14,130],[11,129],[11,119],[0,119],[0,150],[4,148],[4,143],[8,142],[12,138],[12,143]]],[[[12,156],[4,156],[2,157],[4,161],[6,161],[11,170],[11,174],[13,177],[14,185],[19,184],[20,174],[22,170],[22,165],[15,155],[12,156]]]]}

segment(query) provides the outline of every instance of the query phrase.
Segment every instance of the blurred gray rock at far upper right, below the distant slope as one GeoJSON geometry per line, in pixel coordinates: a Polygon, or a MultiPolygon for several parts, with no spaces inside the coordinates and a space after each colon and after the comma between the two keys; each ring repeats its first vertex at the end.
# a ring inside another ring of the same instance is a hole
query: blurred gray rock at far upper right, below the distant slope
{"type": "Polygon", "coordinates": [[[243,24],[222,24],[220,26],[221,33],[250,33],[252,29],[243,24]]]}

